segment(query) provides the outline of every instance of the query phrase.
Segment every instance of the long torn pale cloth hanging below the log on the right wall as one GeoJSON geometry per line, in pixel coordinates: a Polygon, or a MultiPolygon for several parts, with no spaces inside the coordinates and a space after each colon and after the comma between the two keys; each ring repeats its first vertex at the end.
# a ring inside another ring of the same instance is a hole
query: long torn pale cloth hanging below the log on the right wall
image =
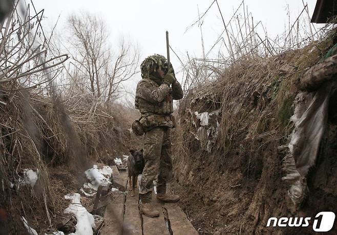
{"type": "Polygon", "coordinates": [[[304,198],[307,191],[305,178],[317,159],[328,117],[331,87],[324,84],[316,92],[300,92],[295,99],[295,110],[291,117],[295,128],[283,162],[287,175],[282,178],[290,183],[288,196],[295,205],[299,205],[304,198]]]}

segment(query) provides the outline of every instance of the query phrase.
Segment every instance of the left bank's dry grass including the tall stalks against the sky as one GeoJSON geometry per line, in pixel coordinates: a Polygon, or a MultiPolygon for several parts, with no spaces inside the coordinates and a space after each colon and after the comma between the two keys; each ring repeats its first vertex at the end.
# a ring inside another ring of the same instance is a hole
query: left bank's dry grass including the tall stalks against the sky
{"type": "Polygon", "coordinates": [[[22,15],[15,5],[0,40],[0,208],[17,234],[27,232],[22,216],[37,231],[50,231],[65,207],[63,196],[77,192],[90,160],[111,163],[126,152],[131,137],[127,127],[137,115],[77,86],[56,83],[68,56],[50,51],[42,17],[43,11],[29,6],[22,15]],[[67,172],[65,182],[71,187],[62,190],[65,185],[51,179],[50,174],[57,175],[55,167],[67,172]],[[39,172],[34,189],[11,187],[26,168],[39,172]]]}

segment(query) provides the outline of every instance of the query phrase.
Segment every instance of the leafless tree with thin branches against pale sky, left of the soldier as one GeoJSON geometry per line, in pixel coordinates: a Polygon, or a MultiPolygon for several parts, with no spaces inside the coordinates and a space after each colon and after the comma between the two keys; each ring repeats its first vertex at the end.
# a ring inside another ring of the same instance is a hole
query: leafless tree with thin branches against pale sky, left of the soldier
{"type": "Polygon", "coordinates": [[[95,98],[110,101],[116,97],[121,82],[137,73],[139,54],[121,40],[115,51],[109,47],[109,32],[102,19],[83,13],[68,19],[70,45],[74,62],[72,75],[89,81],[87,89],[95,98]]]}

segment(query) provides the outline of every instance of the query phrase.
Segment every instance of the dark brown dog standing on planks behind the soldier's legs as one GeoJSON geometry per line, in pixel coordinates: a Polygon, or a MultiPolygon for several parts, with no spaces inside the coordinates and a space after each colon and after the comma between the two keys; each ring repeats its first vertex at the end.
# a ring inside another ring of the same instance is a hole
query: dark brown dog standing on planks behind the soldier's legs
{"type": "Polygon", "coordinates": [[[135,187],[137,185],[137,177],[139,174],[143,173],[145,166],[145,160],[143,157],[143,149],[141,150],[130,150],[131,156],[128,157],[128,176],[129,176],[129,187],[131,191],[131,197],[135,196],[135,187]]]}

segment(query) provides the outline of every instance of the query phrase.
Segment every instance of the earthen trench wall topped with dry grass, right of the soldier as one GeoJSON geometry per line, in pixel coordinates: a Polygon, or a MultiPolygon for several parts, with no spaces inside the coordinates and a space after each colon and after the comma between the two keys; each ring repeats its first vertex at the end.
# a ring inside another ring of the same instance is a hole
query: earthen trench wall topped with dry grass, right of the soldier
{"type": "Polygon", "coordinates": [[[310,234],[312,226],[267,228],[266,224],[270,217],[313,218],[320,211],[337,213],[333,105],[300,207],[293,205],[287,195],[289,185],[282,180],[285,149],[293,129],[292,103],[298,93],[294,84],[333,44],[331,39],[263,61],[241,61],[215,83],[185,97],[179,108],[180,127],[175,130],[172,187],[182,196],[181,206],[199,231],[310,234]]]}

